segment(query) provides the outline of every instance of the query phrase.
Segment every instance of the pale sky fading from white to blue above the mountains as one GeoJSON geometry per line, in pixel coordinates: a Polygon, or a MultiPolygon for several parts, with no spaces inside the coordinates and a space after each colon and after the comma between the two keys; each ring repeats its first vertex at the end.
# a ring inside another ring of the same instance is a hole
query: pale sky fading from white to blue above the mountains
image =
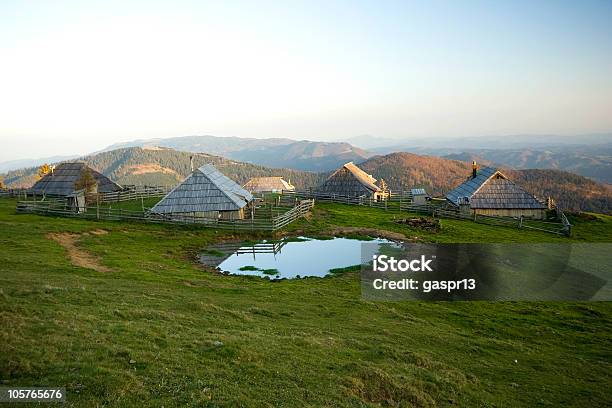
{"type": "Polygon", "coordinates": [[[612,1],[0,0],[0,161],[612,130],[612,1]]]}

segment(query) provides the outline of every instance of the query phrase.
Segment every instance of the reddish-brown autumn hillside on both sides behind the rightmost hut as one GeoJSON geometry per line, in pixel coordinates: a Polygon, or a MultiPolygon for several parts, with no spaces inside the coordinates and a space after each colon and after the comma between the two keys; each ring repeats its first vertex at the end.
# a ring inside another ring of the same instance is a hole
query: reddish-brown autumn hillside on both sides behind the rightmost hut
{"type": "MultiPolygon", "coordinates": [[[[468,161],[449,160],[412,153],[375,156],[360,166],[374,177],[384,178],[391,189],[422,186],[441,195],[470,174],[468,161]]],[[[509,170],[504,173],[540,198],[553,197],[562,208],[612,212],[612,186],[561,170],[509,170]]]]}

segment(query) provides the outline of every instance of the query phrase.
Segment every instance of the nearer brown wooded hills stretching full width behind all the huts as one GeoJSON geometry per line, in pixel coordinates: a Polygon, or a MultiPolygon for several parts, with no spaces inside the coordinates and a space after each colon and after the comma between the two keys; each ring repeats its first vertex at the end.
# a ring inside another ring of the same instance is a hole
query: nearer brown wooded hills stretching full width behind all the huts
{"type": "MultiPolygon", "coordinates": [[[[330,173],[271,168],[208,153],[182,152],[162,147],[123,147],[99,152],[83,160],[119,184],[176,185],[190,172],[190,156],[194,156],[195,166],[212,163],[241,184],[251,177],[274,175],[283,176],[298,189],[304,189],[316,187],[330,173]]],[[[425,187],[434,195],[443,195],[465,180],[471,172],[469,161],[404,152],[374,156],[359,165],[375,178],[383,178],[392,190],[418,186],[425,187]]],[[[608,184],[561,170],[503,171],[536,196],[555,198],[563,208],[612,212],[612,186],[608,184]]],[[[36,167],[13,170],[4,175],[4,180],[12,187],[28,187],[36,181],[36,172],[36,167]]]]}

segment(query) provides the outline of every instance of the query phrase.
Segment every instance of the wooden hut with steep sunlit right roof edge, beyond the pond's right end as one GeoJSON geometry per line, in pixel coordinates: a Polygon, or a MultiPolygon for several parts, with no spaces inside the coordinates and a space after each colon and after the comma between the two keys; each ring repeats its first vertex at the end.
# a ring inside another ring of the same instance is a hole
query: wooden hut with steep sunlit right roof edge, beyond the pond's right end
{"type": "Polygon", "coordinates": [[[317,188],[321,194],[345,197],[372,197],[384,199],[388,192],[376,185],[376,179],[357,167],[353,162],[346,163],[336,170],[321,186],[317,188]]]}

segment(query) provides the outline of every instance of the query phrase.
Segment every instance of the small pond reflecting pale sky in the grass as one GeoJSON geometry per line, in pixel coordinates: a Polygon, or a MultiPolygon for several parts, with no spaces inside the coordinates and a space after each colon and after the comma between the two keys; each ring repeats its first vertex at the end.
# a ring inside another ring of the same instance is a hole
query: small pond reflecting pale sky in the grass
{"type": "Polygon", "coordinates": [[[386,239],[355,238],[316,239],[298,237],[284,241],[261,241],[254,244],[220,244],[207,248],[200,261],[233,275],[255,275],[270,279],[329,275],[337,270],[372,259],[384,245],[399,244],[386,239]]]}

